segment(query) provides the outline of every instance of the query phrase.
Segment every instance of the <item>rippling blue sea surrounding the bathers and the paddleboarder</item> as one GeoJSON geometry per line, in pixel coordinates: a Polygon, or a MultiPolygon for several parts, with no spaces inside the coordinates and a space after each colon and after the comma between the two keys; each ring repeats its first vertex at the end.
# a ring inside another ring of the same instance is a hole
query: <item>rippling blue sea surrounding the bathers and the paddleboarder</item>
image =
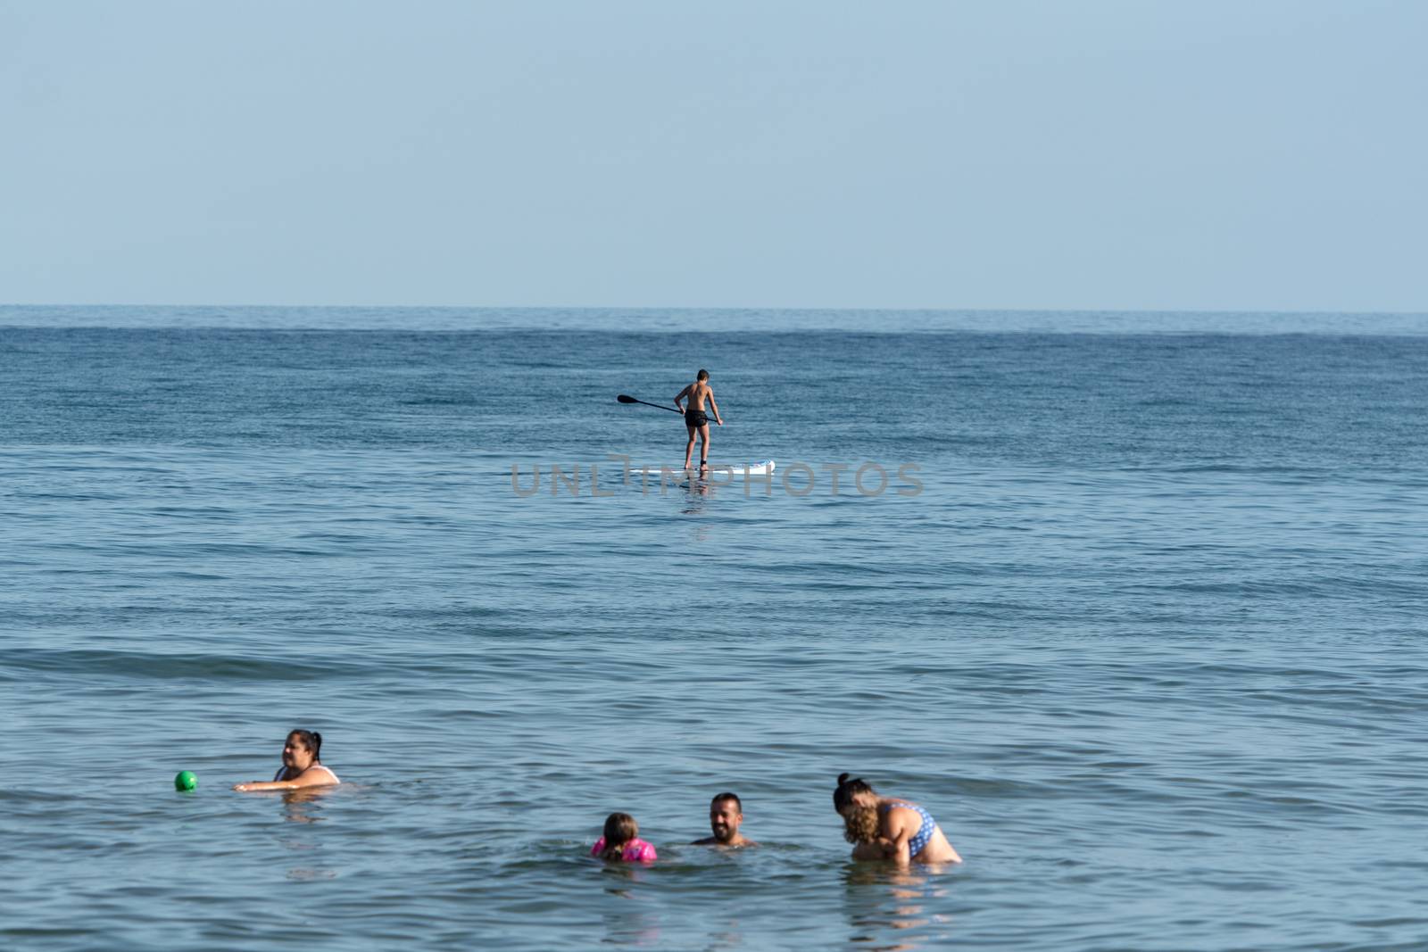
{"type": "Polygon", "coordinates": [[[1425,405],[1424,314],[0,307],[0,948],[1421,952],[1425,405]]]}

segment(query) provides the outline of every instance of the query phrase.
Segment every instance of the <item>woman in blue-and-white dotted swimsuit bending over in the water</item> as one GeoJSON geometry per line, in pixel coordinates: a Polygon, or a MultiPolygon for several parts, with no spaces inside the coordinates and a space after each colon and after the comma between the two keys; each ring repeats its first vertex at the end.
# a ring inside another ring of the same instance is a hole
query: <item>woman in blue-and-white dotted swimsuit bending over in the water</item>
{"type": "Polygon", "coordinates": [[[962,861],[931,814],[911,801],[878,796],[863,778],[838,774],[833,808],[843,816],[843,835],[853,844],[854,859],[962,861]]]}

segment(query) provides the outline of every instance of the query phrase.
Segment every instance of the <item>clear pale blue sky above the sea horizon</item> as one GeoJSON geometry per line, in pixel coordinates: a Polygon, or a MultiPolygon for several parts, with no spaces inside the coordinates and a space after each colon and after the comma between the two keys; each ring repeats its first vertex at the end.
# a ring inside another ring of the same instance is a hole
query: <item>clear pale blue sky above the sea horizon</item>
{"type": "Polygon", "coordinates": [[[0,303],[1428,311],[1422,0],[0,0],[0,303]]]}

